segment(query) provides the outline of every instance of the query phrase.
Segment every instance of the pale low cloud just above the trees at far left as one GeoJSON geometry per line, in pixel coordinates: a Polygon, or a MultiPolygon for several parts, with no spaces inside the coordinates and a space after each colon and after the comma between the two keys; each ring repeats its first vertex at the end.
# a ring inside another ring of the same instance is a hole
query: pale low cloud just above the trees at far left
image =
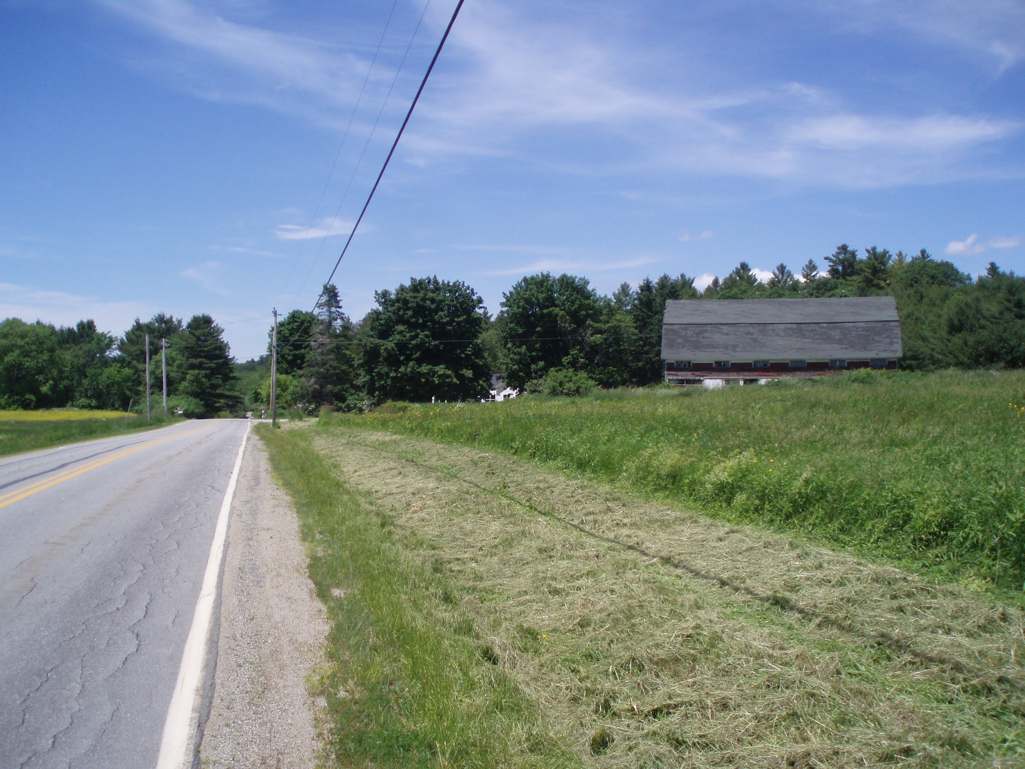
{"type": "Polygon", "coordinates": [[[0,283],[0,318],[20,318],[27,323],[41,320],[72,326],[91,318],[100,330],[120,334],[134,318],[149,318],[154,312],[152,306],[140,301],[107,301],[97,296],[0,283]]]}

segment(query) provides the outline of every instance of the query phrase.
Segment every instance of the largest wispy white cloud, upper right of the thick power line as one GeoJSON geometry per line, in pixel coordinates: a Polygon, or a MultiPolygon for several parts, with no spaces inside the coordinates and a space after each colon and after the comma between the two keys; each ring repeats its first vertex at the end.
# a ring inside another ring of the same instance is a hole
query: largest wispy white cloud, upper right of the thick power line
{"type": "Polygon", "coordinates": [[[490,148],[578,172],[657,167],[873,188],[992,173],[977,162],[980,151],[1022,128],[987,115],[858,110],[805,83],[709,92],[683,73],[656,88],[646,82],[654,60],[590,32],[542,25],[518,6],[482,0],[460,22],[453,42],[465,71],[424,108],[430,139],[412,134],[417,152],[490,148]],[[617,149],[572,160],[563,152],[570,132],[575,144],[617,149]],[[555,151],[531,140],[541,135],[555,151]]]}

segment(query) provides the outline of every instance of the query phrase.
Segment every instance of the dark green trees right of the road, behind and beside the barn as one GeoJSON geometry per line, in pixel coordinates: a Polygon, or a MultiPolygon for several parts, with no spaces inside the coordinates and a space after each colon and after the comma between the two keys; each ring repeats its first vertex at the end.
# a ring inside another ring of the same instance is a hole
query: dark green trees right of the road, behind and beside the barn
{"type": "MultiPolygon", "coordinates": [[[[510,387],[571,394],[662,379],[662,316],[669,299],[896,297],[906,368],[1025,364],[1025,279],[990,264],[978,279],[927,251],[908,256],[844,244],[820,270],[784,264],[761,281],[745,261],[703,290],[687,275],[623,283],[611,296],[586,278],[539,273],[503,294],[491,316],[461,281],[413,278],[374,294],[359,322],[326,285],[315,312],[280,324],[279,401],[343,410],[385,400],[484,397],[491,375],[510,387]],[[799,276],[799,277],[798,277],[799,276]]],[[[269,400],[264,379],[251,397],[269,400]]]]}

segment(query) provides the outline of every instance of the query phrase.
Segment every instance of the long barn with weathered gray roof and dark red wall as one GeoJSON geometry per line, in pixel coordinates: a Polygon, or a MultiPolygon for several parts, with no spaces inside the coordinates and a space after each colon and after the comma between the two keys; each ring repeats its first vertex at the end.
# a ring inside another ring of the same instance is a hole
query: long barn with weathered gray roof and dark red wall
{"type": "Polygon", "coordinates": [[[892,296],[678,299],[662,321],[665,378],[679,385],[896,368],[902,352],[892,296]]]}

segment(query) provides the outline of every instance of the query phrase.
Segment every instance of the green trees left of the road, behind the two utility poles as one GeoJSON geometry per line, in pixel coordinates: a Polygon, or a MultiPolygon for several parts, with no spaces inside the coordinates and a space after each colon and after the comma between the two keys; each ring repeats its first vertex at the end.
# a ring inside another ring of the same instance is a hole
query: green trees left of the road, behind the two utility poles
{"type": "Polygon", "coordinates": [[[96,328],[92,320],[74,326],[0,323],[0,408],[135,410],[146,399],[146,336],[150,335],[155,406],[161,404],[161,340],[167,342],[168,406],[188,416],[238,412],[234,359],[223,329],[209,315],[188,322],[158,313],[135,319],[123,336],[96,328]]]}

